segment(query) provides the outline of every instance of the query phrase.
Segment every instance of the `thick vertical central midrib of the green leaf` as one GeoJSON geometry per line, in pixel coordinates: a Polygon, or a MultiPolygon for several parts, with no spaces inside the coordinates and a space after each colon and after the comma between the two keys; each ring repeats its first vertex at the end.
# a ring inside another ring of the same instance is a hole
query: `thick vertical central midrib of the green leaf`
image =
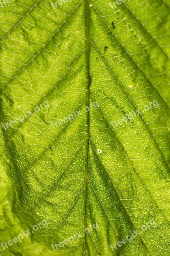
{"type": "MultiPolygon", "coordinates": [[[[86,92],[86,106],[87,111],[87,138],[86,138],[86,160],[85,160],[85,182],[84,182],[84,205],[85,205],[85,228],[87,227],[86,219],[86,200],[87,200],[87,179],[88,179],[88,154],[89,154],[89,141],[90,141],[90,0],[85,0],[85,22],[86,22],[86,66],[87,66],[87,92],[86,92]]],[[[86,250],[86,233],[84,237],[83,255],[86,250]]]]}

